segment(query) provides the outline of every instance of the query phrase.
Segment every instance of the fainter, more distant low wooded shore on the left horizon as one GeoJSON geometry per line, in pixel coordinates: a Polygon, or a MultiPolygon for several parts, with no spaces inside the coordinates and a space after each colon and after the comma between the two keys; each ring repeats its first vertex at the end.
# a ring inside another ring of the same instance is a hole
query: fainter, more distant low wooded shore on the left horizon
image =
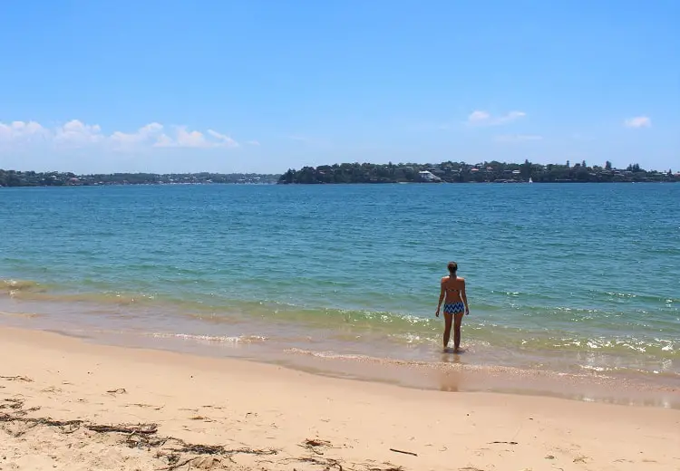
{"type": "Polygon", "coordinates": [[[0,169],[0,187],[64,187],[99,185],[272,184],[278,175],[242,173],[112,173],[75,175],[71,172],[19,172],[0,169]]]}

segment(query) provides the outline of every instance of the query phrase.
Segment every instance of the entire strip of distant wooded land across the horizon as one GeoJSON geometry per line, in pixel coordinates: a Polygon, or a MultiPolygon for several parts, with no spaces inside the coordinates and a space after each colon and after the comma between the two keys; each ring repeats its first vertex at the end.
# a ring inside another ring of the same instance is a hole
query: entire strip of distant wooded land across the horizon
{"type": "Polygon", "coordinates": [[[608,183],[680,182],[680,172],[627,168],[588,167],[586,162],[523,164],[498,161],[468,164],[343,163],[288,169],[284,174],[257,173],[111,173],[76,175],[72,172],[34,172],[0,168],[0,187],[90,187],[109,185],[209,185],[209,184],[343,184],[343,183],[608,183]]]}

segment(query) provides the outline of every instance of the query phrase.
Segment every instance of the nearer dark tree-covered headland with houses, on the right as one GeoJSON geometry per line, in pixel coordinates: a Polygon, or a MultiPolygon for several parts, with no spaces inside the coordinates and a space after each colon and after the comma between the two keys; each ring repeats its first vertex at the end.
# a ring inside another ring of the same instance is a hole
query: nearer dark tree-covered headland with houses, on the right
{"type": "Polygon", "coordinates": [[[475,165],[464,162],[442,162],[441,164],[371,164],[344,163],[322,165],[316,168],[289,169],[279,178],[280,184],[319,183],[402,183],[402,182],[643,182],[680,181],[680,173],[671,170],[658,172],[645,170],[638,164],[627,168],[613,168],[607,162],[605,167],[588,167],[586,162],[573,166],[534,164],[526,160],[523,164],[505,162],[483,162],[475,165]]]}

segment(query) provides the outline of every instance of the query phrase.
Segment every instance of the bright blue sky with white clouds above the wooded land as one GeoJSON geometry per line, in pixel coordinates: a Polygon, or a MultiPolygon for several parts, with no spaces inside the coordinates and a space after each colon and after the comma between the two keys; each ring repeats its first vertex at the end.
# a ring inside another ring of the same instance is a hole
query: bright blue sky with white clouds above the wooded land
{"type": "Polygon", "coordinates": [[[680,2],[0,4],[0,168],[680,170],[680,2]]]}

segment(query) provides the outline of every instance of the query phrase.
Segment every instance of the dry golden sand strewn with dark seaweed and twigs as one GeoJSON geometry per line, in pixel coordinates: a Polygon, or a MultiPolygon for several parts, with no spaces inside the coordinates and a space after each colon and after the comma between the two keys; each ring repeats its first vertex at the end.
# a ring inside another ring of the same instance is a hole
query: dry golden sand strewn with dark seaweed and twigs
{"type": "Polygon", "coordinates": [[[674,409],[403,389],[8,328],[0,345],[3,471],[680,470],[674,409]]]}

